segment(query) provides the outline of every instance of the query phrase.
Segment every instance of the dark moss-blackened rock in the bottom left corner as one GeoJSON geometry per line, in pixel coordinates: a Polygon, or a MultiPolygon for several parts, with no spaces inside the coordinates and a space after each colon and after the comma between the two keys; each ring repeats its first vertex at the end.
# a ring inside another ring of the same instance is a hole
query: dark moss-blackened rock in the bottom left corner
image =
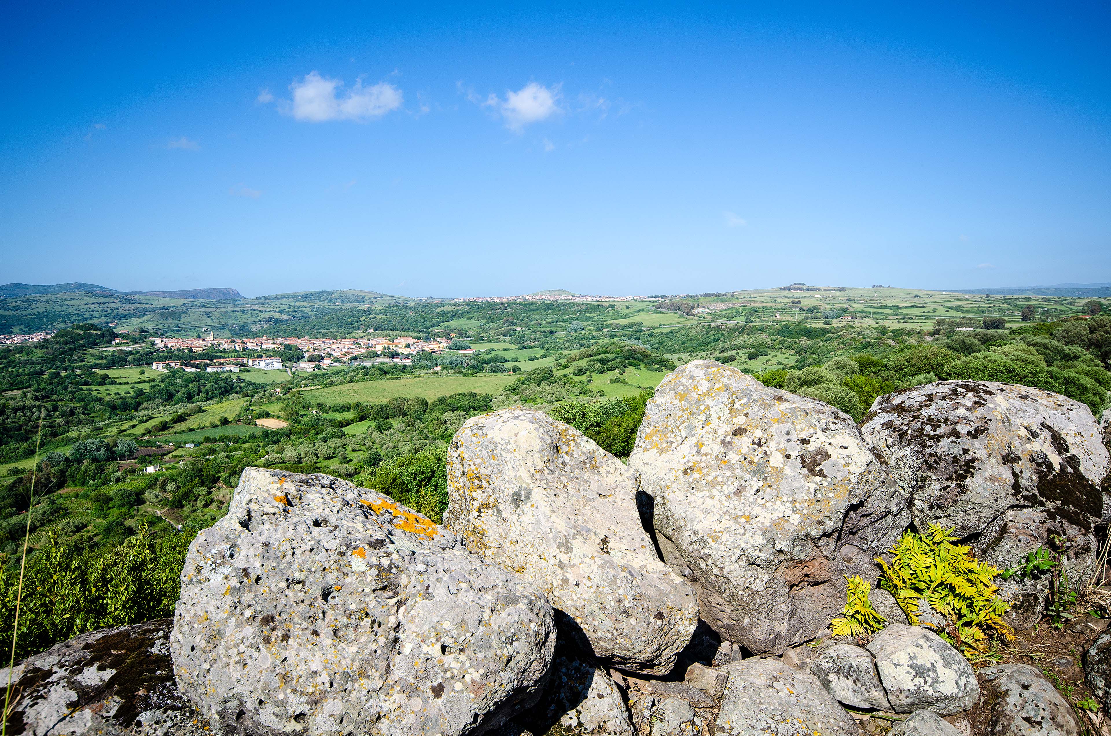
{"type": "MultiPolygon", "coordinates": [[[[13,736],[212,734],[178,690],[171,620],[103,628],[28,657],[10,673],[13,736]]],[[[9,672],[0,669],[0,687],[9,672]]]]}

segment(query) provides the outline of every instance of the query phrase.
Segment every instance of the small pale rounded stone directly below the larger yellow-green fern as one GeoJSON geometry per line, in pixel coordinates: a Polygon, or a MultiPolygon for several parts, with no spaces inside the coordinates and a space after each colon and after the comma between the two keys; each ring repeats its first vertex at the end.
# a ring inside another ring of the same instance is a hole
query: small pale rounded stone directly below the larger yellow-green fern
{"type": "Polygon", "coordinates": [[[968,710],[980,697],[972,666],[960,652],[920,626],[889,626],[868,650],[895,713],[930,708],[941,716],[968,710]]]}

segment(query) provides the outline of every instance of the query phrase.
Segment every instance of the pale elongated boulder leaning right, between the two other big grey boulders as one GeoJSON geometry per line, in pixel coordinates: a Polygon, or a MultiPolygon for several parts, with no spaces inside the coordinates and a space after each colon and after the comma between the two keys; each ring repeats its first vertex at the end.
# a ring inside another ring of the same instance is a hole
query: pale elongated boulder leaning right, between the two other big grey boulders
{"type": "Polygon", "coordinates": [[[543,591],[572,619],[563,633],[585,637],[622,669],[672,668],[698,625],[698,599],[657,556],[620,460],[570,426],[516,407],[456,432],[448,494],[444,526],[543,591]]]}

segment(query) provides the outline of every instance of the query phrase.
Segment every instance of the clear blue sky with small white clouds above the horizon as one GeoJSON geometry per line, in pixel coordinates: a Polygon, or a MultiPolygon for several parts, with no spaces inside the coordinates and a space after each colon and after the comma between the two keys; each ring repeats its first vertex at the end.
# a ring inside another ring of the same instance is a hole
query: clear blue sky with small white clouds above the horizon
{"type": "Polygon", "coordinates": [[[0,282],[1111,281],[1105,3],[224,4],[9,7],[0,282]]]}

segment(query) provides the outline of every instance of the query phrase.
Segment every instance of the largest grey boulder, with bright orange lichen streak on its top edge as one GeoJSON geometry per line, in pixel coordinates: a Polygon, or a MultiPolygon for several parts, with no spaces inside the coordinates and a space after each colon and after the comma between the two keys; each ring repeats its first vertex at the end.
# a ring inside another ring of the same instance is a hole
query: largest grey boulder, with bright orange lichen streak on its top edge
{"type": "Polygon", "coordinates": [[[324,475],[247,468],[190,545],[178,683],[240,734],[483,733],[539,696],[550,604],[458,537],[324,475]]]}

